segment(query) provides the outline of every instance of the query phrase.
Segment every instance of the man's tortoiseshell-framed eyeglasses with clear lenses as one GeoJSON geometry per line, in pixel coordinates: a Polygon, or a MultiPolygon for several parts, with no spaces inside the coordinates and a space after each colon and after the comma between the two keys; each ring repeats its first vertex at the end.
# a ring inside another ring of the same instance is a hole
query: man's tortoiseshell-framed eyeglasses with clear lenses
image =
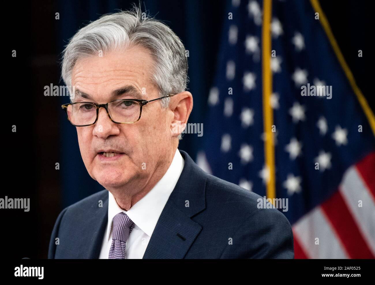
{"type": "Polygon", "coordinates": [[[112,122],[116,124],[132,124],[141,118],[142,107],[144,105],[174,95],[176,94],[169,94],[149,101],[142,99],[117,99],[107,104],[76,102],[61,105],[61,108],[65,110],[69,122],[76,127],[95,124],[98,121],[100,107],[103,107],[107,111],[107,115],[112,122]]]}

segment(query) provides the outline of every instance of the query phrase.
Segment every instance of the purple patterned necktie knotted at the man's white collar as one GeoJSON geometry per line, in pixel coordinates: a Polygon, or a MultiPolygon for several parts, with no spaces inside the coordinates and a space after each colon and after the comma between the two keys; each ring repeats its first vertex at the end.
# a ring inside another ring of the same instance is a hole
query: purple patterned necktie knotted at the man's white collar
{"type": "Polygon", "coordinates": [[[113,234],[108,259],[126,259],[125,247],[134,223],[125,213],[118,213],[113,218],[113,234]]]}

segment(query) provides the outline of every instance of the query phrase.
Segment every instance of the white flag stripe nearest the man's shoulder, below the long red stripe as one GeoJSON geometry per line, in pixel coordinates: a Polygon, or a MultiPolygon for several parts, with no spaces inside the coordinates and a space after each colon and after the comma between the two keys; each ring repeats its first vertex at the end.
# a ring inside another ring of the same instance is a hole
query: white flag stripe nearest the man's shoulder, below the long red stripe
{"type": "Polygon", "coordinates": [[[293,231],[299,236],[301,245],[310,258],[348,258],[321,207],[316,207],[303,216],[294,225],[293,231]],[[316,238],[319,238],[319,244],[315,244],[316,238]]]}

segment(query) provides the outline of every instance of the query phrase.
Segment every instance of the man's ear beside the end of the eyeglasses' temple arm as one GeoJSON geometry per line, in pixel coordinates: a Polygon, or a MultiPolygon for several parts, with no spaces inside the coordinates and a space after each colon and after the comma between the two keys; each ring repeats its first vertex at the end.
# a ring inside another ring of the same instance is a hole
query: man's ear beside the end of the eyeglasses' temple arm
{"type": "Polygon", "coordinates": [[[171,97],[169,108],[174,114],[171,121],[172,137],[177,137],[186,127],[193,109],[193,96],[189,91],[178,93],[171,97]]]}

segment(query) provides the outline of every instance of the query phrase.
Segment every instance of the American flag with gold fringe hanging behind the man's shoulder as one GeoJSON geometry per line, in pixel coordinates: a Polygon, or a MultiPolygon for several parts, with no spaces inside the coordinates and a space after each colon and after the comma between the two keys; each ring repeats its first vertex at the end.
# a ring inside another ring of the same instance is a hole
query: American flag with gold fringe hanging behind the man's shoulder
{"type": "Polygon", "coordinates": [[[319,2],[233,0],[225,12],[197,163],[288,198],[295,258],[374,258],[374,114],[319,2]]]}

